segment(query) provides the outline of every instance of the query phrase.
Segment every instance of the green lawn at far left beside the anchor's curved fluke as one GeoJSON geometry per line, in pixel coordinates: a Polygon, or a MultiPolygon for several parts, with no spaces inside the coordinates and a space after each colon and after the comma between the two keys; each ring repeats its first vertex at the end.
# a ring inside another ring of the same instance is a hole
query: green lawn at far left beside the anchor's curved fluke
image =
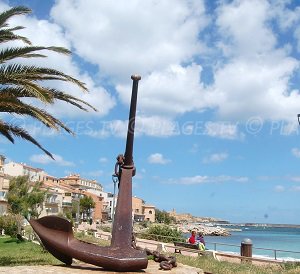
{"type": "Polygon", "coordinates": [[[62,263],[37,244],[8,236],[0,237],[0,266],[45,264],[62,263]]]}

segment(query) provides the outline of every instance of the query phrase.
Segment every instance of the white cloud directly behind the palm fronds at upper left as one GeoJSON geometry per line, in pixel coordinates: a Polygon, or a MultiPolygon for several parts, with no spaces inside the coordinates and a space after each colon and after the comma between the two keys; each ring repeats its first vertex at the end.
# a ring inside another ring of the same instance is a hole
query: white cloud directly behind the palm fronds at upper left
{"type": "MultiPolygon", "coordinates": [[[[4,10],[5,7],[0,6],[0,10],[1,9],[4,10]]],[[[65,35],[61,26],[47,20],[38,20],[36,17],[34,17],[34,14],[30,16],[13,17],[9,23],[11,26],[24,26],[25,29],[20,30],[18,33],[28,37],[34,46],[61,46],[69,49],[71,48],[71,41],[65,35]]],[[[23,46],[24,44],[18,42],[18,45],[23,46]]],[[[72,59],[72,56],[65,56],[53,52],[45,52],[45,54],[48,56],[46,59],[20,59],[18,62],[58,69],[79,79],[86,84],[86,87],[89,89],[89,93],[82,92],[77,86],[71,83],[60,81],[48,81],[44,83],[47,86],[65,90],[67,93],[90,103],[98,109],[98,112],[94,112],[88,108],[90,111],[85,113],[84,111],[80,111],[79,109],[75,108],[71,104],[56,102],[55,106],[46,108],[52,114],[58,115],[59,117],[103,116],[115,106],[115,99],[102,86],[97,84],[90,75],[82,72],[82,68],[79,67],[80,64],[76,63],[74,59],[72,59]]],[[[45,107],[42,106],[42,108],[45,107]]]]}

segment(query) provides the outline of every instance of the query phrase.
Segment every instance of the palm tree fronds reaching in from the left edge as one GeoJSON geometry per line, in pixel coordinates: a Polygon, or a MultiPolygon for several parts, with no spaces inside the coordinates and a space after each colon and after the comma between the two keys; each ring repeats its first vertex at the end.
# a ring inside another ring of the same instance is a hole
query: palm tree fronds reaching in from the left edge
{"type": "MultiPolygon", "coordinates": [[[[18,6],[0,13],[0,113],[32,117],[51,129],[64,129],[73,132],[59,119],[47,111],[33,106],[24,101],[24,98],[36,99],[44,105],[52,105],[56,100],[64,101],[73,106],[87,111],[87,107],[96,111],[87,102],[76,98],[64,91],[49,88],[43,85],[48,80],[59,80],[73,83],[83,91],[87,91],[84,83],[55,69],[24,65],[17,62],[16,58],[47,57],[42,50],[54,51],[61,54],[71,52],[62,47],[32,46],[28,38],[20,36],[15,31],[24,27],[10,27],[7,21],[16,15],[28,14],[31,10],[18,6]],[[4,43],[19,40],[24,42],[22,47],[5,47],[4,43]]],[[[27,100],[28,101],[28,100],[27,100]]],[[[0,119],[0,134],[14,143],[15,137],[23,138],[42,149],[51,158],[52,154],[44,149],[24,128],[5,122],[0,119]]]]}

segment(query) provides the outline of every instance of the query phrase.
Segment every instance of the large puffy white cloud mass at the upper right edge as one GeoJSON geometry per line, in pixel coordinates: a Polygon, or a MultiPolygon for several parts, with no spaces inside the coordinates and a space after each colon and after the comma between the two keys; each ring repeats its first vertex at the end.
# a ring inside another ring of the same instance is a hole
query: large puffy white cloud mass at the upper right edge
{"type": "Polygon", "coordinates": [[[217,26],[227,58],[215,68],[213,89],[222,118],[294,119],[300,95],[299,90],[290,90],[289,81],[299,61],[290,56],[289,45],[277,47],[273,18],[267,1],[220,6],[217,26]]]}

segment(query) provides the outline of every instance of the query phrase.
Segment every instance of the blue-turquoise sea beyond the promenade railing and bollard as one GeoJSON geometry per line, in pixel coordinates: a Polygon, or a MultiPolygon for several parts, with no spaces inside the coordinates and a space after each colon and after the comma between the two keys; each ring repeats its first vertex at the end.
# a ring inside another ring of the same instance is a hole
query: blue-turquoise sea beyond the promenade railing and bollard
{"type": "MultiPolygon", "coordinates": [[[[252,241],[252,256],[285,261],[300,261],[300,228],[269,226],[226,226],[230,236],[205,236],[210,250],[240,254],[241,242],[252,241]]],[[[186,234],[186,237],[189,237],[186,234]]]]}

